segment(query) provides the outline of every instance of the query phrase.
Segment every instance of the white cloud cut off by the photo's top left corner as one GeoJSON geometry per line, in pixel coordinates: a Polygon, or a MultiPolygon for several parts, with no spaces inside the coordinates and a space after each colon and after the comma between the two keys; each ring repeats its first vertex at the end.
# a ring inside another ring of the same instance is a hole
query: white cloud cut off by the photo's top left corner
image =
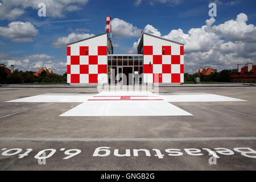
{"type": "Polygon", "coordinates": [[[47,16],[63,18],[65,13],[81,9],[74,4],[85,5],[87,2],[88,0],[2,0],[0,20],[14,20],[24,14],[29,7],[38,10],[39,3],[46,4],[47,16]]]}

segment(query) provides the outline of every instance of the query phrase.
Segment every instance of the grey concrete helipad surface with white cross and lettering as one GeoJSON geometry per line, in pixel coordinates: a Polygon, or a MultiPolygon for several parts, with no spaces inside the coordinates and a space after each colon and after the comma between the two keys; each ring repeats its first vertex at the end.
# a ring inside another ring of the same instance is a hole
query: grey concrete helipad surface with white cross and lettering
{"type": "Polygon", "coordinates": [[[0,93],[2,170],[256,169],[255,87],[0,93]]]}

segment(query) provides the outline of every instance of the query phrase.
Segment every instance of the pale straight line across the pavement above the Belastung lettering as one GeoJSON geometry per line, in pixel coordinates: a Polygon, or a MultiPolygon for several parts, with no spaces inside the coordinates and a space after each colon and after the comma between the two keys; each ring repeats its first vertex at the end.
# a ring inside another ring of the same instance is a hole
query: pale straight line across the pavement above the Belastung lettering
{"type": "Polygon", "coordinates": [[[0,140],[31,140],[31,141],[188,141],[188,140],[256,140],[256,137],[192,137],[192,138],[13,138],[1,137],[0,140]]]}

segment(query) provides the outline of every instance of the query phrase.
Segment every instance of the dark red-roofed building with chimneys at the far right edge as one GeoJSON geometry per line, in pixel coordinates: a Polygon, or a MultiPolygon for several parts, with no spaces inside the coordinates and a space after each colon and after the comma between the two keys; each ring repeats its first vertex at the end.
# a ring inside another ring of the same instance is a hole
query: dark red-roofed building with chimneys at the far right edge
{"type": "Polygon", "coordinates": [[[255,83],[256,82],[256,65],[247,63],[242,68],[241,64],[237,65],[237,72],[230,76],[230,82],[255,83]]]}

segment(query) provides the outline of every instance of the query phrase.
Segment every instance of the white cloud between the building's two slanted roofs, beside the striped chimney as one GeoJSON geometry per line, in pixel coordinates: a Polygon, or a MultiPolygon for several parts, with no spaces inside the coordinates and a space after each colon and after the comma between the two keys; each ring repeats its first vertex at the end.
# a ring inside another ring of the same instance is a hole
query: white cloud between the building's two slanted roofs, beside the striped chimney
{"type": "Polygon", "coordinates": [[[125,20],[114,18],[111,23],[114,38],[141,36],[141,30],[134,27],[133,24],[127,23],[125,20]]]}

